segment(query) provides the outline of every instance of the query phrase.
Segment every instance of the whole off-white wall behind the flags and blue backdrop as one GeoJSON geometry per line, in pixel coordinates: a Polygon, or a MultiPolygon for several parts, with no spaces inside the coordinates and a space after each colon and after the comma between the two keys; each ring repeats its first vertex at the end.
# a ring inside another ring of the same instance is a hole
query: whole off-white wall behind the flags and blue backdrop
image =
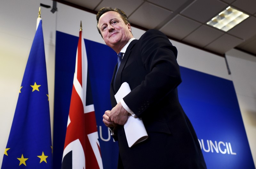
{"type": "MultiPolygon", "coordinates": [[[[36,18],[40,3],[52,5],[49,0],[1,0],[0,1],[0,152],[4,152],[18,99],[19,89],[36,31],[36,18]]],[[[48,88],[50,97],[51,125],[53,129],[54,65],[56,30],[78,36],[80,20],[85,39],[103,43],[96,29],[95,14],[57,3],[58,11],[41,8],[48,88]]],[[[135,38],[144,31],[132,27],[135,38]]],[[[256,57],[237,50],[227,53],[231,70],[228,75],[225,59],[220,56],[171,40],[178,48],[181,66],[233,80],[254,163],[256,162],[256,57]]],[[[0,165],[3,153],[0,153],[0,165]]]]}

